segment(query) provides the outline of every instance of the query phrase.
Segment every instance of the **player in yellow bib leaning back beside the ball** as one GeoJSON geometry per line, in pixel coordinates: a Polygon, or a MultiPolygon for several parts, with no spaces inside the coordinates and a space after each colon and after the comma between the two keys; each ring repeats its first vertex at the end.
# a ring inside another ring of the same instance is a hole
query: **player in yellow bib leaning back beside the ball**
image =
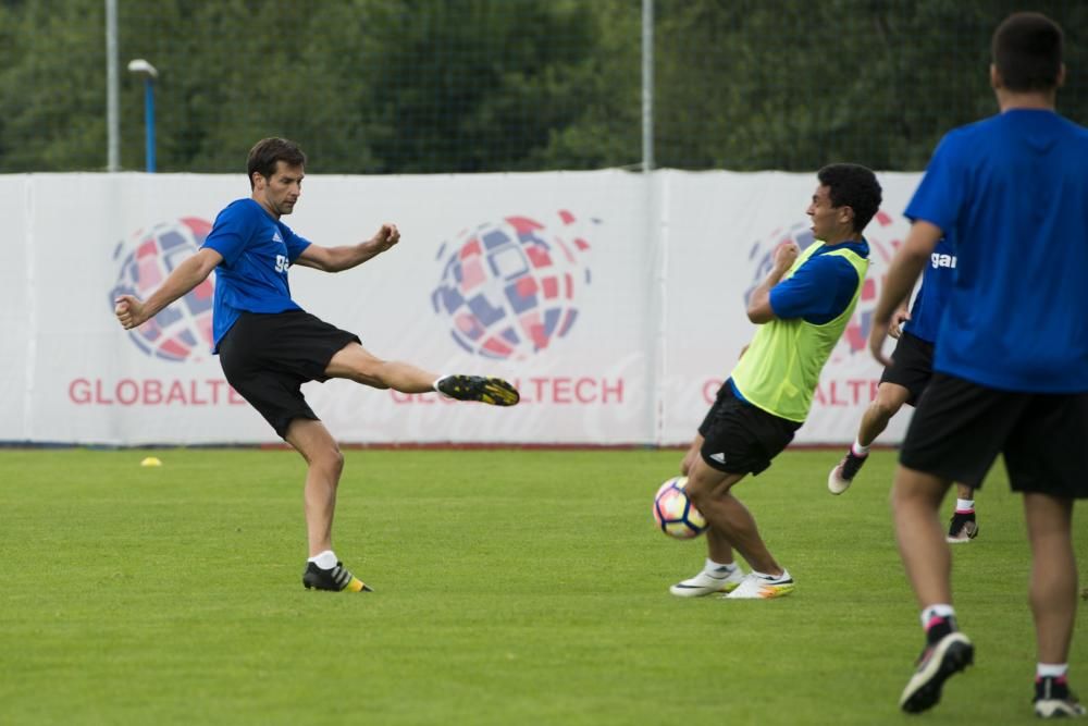
{"type": "Polygon", "coordinates": [[[794,243],[775,250],[770,272],[747,303],[749,319],[759,328],[681,464],[688,494],[709,524],[708,553],[698,574],[670,588],[675,595],[778,598],[794,588],[732,490],[793,440],[865,282],[869,245],[862,232],[880,207],[880,184],[856,164],[830,164],[817,179],[807,210],[815,241],[804,253],[794,243]],[[734,562],[734,552],[751,573],[734,562]]]}

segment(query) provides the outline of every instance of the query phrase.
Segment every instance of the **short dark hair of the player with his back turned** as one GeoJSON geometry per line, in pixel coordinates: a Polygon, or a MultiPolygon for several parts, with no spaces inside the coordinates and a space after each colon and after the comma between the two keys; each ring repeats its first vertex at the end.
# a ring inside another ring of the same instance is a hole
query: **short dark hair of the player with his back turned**
{"type": "Polygon", "coordinates": [[[1062,28],[1041,13],[1013,13],[993,32],[991,52],[1009,90],[1050,90],[1062,70],[1062,28]]]}

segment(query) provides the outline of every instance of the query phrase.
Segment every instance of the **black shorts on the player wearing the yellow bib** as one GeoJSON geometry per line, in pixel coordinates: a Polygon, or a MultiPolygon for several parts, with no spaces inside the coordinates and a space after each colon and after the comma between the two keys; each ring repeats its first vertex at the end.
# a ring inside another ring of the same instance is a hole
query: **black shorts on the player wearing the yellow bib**
{"type": "Polygon", "coordinates": [[[757,475],[793,441],[796,421],[772,416],[738,398],[726,381],[698,427],[707,466],[727,473],[757,475]]]}

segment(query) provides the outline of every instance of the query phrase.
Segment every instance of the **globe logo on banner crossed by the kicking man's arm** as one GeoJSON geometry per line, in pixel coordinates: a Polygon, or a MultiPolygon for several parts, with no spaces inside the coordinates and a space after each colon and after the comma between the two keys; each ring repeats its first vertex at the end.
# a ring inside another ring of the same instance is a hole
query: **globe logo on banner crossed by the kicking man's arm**
{"type": "MultiPolygon", "coordinates": [[[[119,295],[147,299],[174,268],[200,248],[210,231],[209,222],[186,217],[140,230],[133,235],[131,245],[119,243],[113,259],[120,260],[121,272],[110,291],[110,310],[119,295]]],[[[147,355],[162,360],[202,359],[211,352],[214,290],[209,276],[154,318],[128,331],[128,339],[147,355]]]]}

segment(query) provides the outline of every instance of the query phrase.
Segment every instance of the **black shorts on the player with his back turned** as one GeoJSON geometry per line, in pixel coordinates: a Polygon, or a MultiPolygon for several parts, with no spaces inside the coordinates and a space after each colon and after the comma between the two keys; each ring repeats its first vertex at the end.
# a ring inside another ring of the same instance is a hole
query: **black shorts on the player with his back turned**
{"type": "Polygon", "coordinates": [[[1088,497],[1088,393],[999,391],[935,373],[900,464],[977,489],[999,453],[1014,491],[1088,497]]]}

